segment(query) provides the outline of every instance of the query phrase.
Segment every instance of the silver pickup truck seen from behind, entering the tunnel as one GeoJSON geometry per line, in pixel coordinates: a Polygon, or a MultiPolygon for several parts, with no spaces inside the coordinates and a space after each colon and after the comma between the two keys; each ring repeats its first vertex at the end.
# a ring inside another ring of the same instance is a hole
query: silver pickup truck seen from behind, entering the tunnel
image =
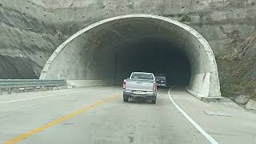
{"type": "Polygon", "coordinates": [[[128,102],[129,98],[146,98],[156,103],[157,87],[154,74],[133,72],[130,78],[123,81],[123,101],[128,102]]]}

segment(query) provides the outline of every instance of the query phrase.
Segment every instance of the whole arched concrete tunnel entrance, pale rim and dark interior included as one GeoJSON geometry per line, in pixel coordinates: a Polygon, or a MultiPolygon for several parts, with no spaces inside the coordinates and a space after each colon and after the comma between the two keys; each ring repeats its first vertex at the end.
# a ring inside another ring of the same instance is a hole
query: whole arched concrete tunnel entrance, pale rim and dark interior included
{"type": "Polygon", "coordinates": [[[170,18],[127,14],[78,31],[54,51],[40,79],[122,84],[132,71],[166,74],[197,97],[221,96],[214,53],[202,35],[170,18]]]}

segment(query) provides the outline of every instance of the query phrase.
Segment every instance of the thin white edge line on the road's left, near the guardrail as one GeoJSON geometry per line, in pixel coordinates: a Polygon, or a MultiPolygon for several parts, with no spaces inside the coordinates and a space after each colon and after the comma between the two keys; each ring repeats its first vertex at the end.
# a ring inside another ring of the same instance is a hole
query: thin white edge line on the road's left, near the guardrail
{"type": "MultiPolygon", "coordinates": [[[[104,90],[104,89],[105,88],[90,89],[90,90],[104,90]]],[[[62,94],[50,94],[50,95],[45,95],[45,96],[40,96],[40,97],[33,97],[33,98],[22,98],[22,99],[16,99],[16,100],[12,100],[12,101],[0,102],[0,104],[10,103],[10,102],[26,101],[26,100],[30,100],[30,99],[36,99],[36,98],[46,98],[46,97],[52,97],[52,96],[56,96],[56,95],[63,95],[63,94],[73,94],[73,93],[85,92],[85,91],[90,91],[90,90],[80,90],[80,91],[73,91],[73,92],[62,93],[62,94]]]]}

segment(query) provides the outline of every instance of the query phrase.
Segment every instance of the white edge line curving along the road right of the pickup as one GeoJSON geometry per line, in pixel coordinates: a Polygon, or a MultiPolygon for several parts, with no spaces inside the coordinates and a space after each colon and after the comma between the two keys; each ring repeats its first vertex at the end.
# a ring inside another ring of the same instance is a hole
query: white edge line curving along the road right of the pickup
{"type": "Polygon", "coordinates": [[[202,129],[201,126],[198,125],[197,122],[194,122],[194,120],[192,118],[190,118],[190,116],[188,114],[186,114],[186,112],[184,110],[182,110],[176,102],[174,102],[174,99],[171,98],[170,96],[170,90],[168,91],[168,96],[170,98],[170,101],[173,102],[174,106],[182,113],[182,115],[188,120],[190,121],[190,123],[212,144],[218,144],[218,142],[210,136],[210,134],[208,134],[205,130],[202,129]]]}

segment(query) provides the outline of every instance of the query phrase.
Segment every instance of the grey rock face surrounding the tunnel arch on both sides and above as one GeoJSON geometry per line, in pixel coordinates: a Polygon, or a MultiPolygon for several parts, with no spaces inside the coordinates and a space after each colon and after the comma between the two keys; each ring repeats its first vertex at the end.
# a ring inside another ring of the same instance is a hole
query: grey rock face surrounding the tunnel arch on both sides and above
{"type": "Polygon", "coordinates": [[[104,18],[134,13],[174,18],[198,30],[214,50],[222,94],[250,94],[256,83],[255,0],[1,0],[0,78],[38,78],[66,38],[104,18]]]}

